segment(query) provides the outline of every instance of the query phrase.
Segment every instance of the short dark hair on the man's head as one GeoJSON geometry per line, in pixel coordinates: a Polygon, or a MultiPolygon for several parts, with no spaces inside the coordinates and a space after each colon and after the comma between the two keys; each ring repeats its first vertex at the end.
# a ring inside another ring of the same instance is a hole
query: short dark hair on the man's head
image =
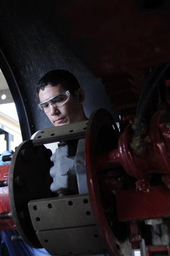
{"type": "Polygon", "coordinates": [[[77,78],[67,70],[56,69],[47,72],[38,82],[37,93],[44,90],[47,85],[61,85],[65,90],[75,91],[80,88],[77,78]]]}

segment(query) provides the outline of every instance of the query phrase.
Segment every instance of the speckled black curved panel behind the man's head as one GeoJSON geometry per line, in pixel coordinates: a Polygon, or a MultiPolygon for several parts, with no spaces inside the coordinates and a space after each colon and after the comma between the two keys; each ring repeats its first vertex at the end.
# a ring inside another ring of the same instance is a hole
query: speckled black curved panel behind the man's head
{"type": "Polygon", "coordinates": [[[23,140],[29,139],[36,130],[52,126],[37,107],[35,87],[42,75],[56,68],[67,69],[77,77],[86,94],[84,109],[87,117],[94,109],[102,107],[117,119],[100,78],[95,78],[69,46],[61,41],[58,31],[62,24],[56,17],[57,29],[52,26],[55,12],[51,9],[50,13],[50,8],[48,5],[45,12],[45,5],[41,9],[38,2],[35,6],[27,1],[0,1],[0,49],[9,71],[3,66],[3,61],[0,68],[16,103],[23,140]]]}

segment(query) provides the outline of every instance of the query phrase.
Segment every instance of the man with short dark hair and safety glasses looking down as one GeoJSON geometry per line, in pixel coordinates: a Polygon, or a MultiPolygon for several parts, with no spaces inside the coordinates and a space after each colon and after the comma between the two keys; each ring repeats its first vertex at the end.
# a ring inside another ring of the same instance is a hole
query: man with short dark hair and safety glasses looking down
{"type": "MultiPolygon", "coordinates": [[[[87,120],[83,110],[84,91],[69,71],[52,70],[46,73],[38,82],[37,93],[40,100],[38,107],[54,126],[87,120]]],[[[46,251],[34,249],[35,255],[40,255],[40,252],[46,251]]]]}

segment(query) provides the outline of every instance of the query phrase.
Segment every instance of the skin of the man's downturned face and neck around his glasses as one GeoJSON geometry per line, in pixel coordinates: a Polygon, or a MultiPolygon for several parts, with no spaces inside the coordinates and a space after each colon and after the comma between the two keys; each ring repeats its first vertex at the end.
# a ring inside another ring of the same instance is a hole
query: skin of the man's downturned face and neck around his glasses
{"type": "MultiPolygon", "coordinates": [[[[78,89],[78,91],[81,89],[78,89]]],[[[61,87],[61,85],[51,86],[48,85],[44,90],[39,91],[40,102],[46,101],[49,98],[61,94],[66,90],[61,87]]],[[[78,91],[76,91],[76,96],[70,95],[67,102],[61,107],[54,107],[50,105],[50,112],[45,113],[51,123],[55,126],[60,126],[68,123],[75,123],[82,121],[82,102],[79,100],[78,91]]]]}

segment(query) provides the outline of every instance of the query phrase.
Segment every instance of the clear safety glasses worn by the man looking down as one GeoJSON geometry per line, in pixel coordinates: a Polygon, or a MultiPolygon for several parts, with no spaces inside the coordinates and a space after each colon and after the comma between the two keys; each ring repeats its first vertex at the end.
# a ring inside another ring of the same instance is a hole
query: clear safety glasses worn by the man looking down
{"type": "Polygon", "coordinates": [[[49,112],[50,105],[52,105],[54,107],[61,107],[63,104],[65,104],[67,102],[67,100],[69,99],[69,96],[70,96],[69,91],[65,91],[61,94],[51,97],[47,101],[44,101],[44,102],[38,104],[38,107],[40,107],[45,112],[49,112]]]}

